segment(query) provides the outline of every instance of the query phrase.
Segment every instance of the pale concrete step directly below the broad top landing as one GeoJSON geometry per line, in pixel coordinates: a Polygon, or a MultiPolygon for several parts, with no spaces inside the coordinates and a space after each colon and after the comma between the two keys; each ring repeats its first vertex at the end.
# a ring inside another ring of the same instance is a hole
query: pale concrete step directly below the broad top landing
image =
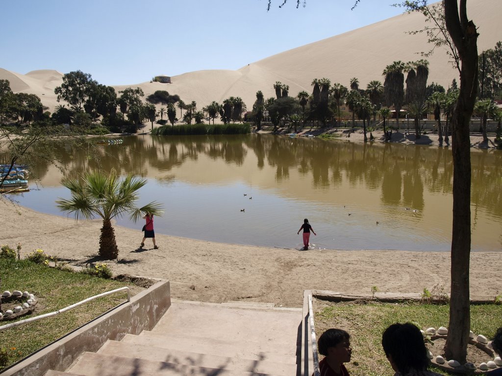
{"type": "Polygon", "coordinates": [[[137,343],[145,346],[172,348],[176,350],[198,352],[220,356],[238,357],[244,359],[262,359],[294,363],[296,361],[296,346],[270,344],[267,342],[235,342],[213,338],[198,338],[186,336],[163,335],[144,330],[139,335],[126,334],[123,342],[137,343]],[[273,359],[273,360],[272,360],[273,359]]]}

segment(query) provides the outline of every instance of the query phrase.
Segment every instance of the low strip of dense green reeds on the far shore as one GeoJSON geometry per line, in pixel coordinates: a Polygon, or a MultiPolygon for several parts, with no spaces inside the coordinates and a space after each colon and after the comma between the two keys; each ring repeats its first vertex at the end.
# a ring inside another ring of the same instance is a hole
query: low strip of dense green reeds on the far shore
{"type": "Polygon", "coordinates": [[[247,133],[251,133],[251,126],[248,123],[164,125],[152,131],[152,134],[158,136],[247,133]]]}

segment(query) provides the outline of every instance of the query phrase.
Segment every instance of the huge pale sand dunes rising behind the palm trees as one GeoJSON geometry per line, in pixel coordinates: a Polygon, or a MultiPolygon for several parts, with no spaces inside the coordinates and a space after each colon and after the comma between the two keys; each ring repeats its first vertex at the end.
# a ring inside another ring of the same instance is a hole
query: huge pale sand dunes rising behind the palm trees
{"type": "MultiPolygon", "coordinates": [[[[493,48],[502,40],[502,29],[498,19],[502,15],[500,0],[471,0],[468,15],[478,26],[478,51],[493,48]]],[[[352,77],[365,87],[371,80],[383,82],[382,72],[395,60],[404,62],[418,60],[418,54],[428,51],[425,34],[409,35],[407,32],[420,30],[425,25],[421,14],[403,14],[348,33],[250,63],[236,71],[203,70],[172,77],[171,84],[144,82],[114,86],[116,91],[140,87],[145,95],[156,90],[167,90],[178,94],[185,103],[196,101],[199,108],[211,101],[222,102],[230,96],[239,96],[247,109],[253,107],[256,92],[261,90],[265,97],[275,96],[273,85],[280,81],[290,86],[290,95],[299,91],[312,91],[314,78],[329,78],[332,83],[348,86],[352,77]]],[[[438,49],[427,58],[429,65],[428,83],[436,82],[448,87],[458,72],[452,68],[444,51],[438,49]]],[[[75,67],[75,70],[79,67],[75,67]]],[[[87,72],[92,75],[92,72],[87,72]]],[[[152,72],[154,76],[156,72],[152,72]]],[[[169,74],[169,72],[167,72],[169,74]]],[[[8,79],[14,92],[37,94],[53,111],[58,104],[54,87],[61,84],[62,74],[54,70],[32,71],[25,75],[0,68],[0,79],[8,79]]],[[[159,106],[160,107],[160,106],[159,106]]]]}

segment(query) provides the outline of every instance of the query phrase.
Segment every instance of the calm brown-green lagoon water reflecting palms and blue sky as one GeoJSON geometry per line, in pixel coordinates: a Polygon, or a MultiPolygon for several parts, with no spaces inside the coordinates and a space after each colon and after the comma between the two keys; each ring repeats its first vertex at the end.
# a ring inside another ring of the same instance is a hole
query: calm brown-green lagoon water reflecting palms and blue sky
{"type": "MultiPolygon", "coordinates": [[[[142,135],[60,152],[70,174],[99,165],[148,179],[139,204],[164,204],[157,233],[300,249],[297,231],[308,218],[314,248],[450,250],[451,148],[269,134],[142,135]]],[[[501,251],[502,151],[472,150],[471,162],[471,248],[501,251]]],[[[45,162],[30,169],[39,182],[17,196],[20,204],[65,215],[55,205],[70,197],[61,172],[45,162]]],[[[117,224],[141,238],[143,222],[117,224]]]]}

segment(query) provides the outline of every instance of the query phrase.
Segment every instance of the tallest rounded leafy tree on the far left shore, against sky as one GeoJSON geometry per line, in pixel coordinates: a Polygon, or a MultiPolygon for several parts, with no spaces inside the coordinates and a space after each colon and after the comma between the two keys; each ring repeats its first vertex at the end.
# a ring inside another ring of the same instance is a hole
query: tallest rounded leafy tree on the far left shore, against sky
{"type": "Polygon", "coordinates": [[[80,70],[66,73],[63,76],[63,83],[54,89],[57,100],[65,101],[70,106],[74,106],[78,111],[82,111],[85,100],[89,97],[97,82],[91,79],[89,73],[80,70]]]}

